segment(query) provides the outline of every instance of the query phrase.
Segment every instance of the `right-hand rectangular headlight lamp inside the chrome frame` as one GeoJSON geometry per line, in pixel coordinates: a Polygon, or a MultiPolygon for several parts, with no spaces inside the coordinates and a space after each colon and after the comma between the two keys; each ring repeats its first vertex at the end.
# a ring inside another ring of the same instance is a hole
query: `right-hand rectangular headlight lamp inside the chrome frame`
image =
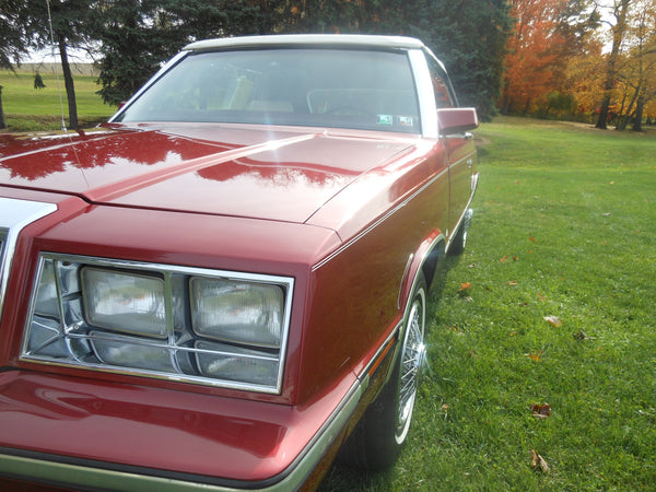
{"type": "Polygon", "coordinates": [[[216,340],[280,348],[284,294],[279,285],[191,279],[194,331],[216,340]]]}

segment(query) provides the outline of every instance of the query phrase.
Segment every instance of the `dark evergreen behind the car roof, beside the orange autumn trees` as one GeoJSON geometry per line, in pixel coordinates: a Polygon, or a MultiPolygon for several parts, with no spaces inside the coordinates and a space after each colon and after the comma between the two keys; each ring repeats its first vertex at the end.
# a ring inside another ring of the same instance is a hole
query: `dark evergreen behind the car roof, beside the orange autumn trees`
{"type": "Polygon", "coordinates": [[[513,19],[506,0],[291,0],[285,32],[419,37],[446,65],[460,102],[489,119],[501,91],[513,19]]]}

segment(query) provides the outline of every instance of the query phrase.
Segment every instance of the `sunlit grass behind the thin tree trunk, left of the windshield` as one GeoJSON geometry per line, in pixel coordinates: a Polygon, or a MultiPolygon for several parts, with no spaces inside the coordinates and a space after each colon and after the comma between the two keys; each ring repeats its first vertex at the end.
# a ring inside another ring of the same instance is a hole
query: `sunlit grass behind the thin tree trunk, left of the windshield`
{"type": "MultiPolygon", "coordinates": [[[[9,131],[57,130],[61,128],[61,104],[68,125],[68,102],[63,78],[59,82],[51,72],[42,72],[45,89],[34,89],[34,74],[26,71],[0,71],[2,107],[9,131]]],[[[116,112],[115,106],[103,104],[96,94],[101,89],[97,78],[74,74],[78,118],[82,127],[94,126],[116,112]]]]}

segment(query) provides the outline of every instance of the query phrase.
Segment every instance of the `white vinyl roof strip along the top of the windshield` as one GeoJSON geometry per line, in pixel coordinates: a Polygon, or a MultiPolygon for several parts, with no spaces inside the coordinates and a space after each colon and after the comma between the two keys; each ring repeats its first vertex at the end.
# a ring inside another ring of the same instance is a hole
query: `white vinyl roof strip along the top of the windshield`
{"type": "Polygon", "coordinates": [[[335,47],[368,47],[368,48],[423,48],[421,40],[403,36],[371,36],[363,34],[282,34],[272,36],[241,36],[204,39],[191,43],[183,49],[204,51],[225,48],[269,48],[293,46],[335,46],[335,47]]]}

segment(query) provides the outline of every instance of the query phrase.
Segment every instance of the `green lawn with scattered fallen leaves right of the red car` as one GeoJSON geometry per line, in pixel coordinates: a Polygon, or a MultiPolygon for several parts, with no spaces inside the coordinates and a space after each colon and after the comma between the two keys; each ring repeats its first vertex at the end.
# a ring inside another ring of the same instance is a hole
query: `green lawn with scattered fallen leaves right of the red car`
{"type": "Polygon", "coordinates": [[[408,446],[385,473],[335,466],[321,490],[653,489],[656,136],[499,118],[477,139],[408,446]]]}

